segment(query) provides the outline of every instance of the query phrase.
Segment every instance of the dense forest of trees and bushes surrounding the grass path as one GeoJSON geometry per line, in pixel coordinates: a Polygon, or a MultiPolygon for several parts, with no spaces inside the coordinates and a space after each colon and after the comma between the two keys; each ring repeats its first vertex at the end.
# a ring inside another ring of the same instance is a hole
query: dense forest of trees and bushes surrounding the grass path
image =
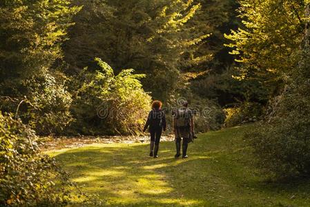
{"type": "Polygon", "coordinates": [[[197,133],[255,123],[262,170],[309,175],[309,57],[308,0],[1,1],[0,206],[70,199],[37,135],[142,135],[157,99],[169,129],[184,100],[197,133]]]}

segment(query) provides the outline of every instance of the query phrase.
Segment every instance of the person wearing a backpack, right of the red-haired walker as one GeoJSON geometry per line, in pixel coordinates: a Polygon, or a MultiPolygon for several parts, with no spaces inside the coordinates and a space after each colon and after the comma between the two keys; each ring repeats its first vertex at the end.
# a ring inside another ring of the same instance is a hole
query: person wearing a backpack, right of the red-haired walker
{"type": "Polygon", "coordinates": [[[188,102],[185,102],[183,107],[173,114],[173,132],[175,133],[175,146],[177,148],[175,158],[181,156],[181,139],[183,139],[182,158],[188,158],[187,147],[188,143],[193,141],[193,131],[193,112],[188,108],[188,102]]]}

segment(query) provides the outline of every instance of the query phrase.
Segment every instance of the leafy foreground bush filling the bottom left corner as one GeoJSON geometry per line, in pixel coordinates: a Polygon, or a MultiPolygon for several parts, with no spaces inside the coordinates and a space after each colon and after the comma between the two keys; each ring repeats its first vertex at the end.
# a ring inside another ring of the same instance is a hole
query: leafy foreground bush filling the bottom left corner
{"type": "Polygon", "coordinates": [[[65,206],[72,182],[33,130],[0,113],[0,206],[65,206]]]}

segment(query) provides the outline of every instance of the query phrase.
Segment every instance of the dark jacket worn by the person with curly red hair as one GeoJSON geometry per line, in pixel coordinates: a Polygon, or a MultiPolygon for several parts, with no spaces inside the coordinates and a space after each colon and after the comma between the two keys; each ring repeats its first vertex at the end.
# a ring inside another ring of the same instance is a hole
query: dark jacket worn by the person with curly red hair
{"type": "Polygon", "coordinates": [[[161,109],[153,109],[148,113],[148,119],[144,126],[144,131],[150,127],[150,130],[163,128],[166,130],[166,115],[161,109]]]}

